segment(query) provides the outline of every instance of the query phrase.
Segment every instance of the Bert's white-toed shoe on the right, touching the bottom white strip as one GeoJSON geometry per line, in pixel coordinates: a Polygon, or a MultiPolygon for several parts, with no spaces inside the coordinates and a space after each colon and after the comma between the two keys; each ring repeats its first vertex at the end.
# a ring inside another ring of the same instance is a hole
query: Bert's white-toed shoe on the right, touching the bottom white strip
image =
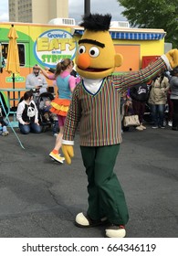
{"type": "Polygon", "coordinates": [[[106,231],[107,238],[124,238],[126,236],[125,227],[120,225],[111,225],[106,231]]]}

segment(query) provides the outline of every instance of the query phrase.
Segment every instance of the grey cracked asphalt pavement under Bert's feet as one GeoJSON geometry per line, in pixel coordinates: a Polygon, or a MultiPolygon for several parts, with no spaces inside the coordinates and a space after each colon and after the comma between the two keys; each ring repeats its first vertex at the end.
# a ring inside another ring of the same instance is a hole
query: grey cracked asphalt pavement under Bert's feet
{"type": "MultiPolygon", "coordinates": [[[[127,238],[177,238],[178,132],[169,126],[131,128],[115,165],[130,220],[127,238]]],[[[1,238],[102,238],[106,227],[79,229],[75,216],[88,203],[87,176],[75,138],[71,165],[52,161],[51,131],[0,136],[1,238]]]]}

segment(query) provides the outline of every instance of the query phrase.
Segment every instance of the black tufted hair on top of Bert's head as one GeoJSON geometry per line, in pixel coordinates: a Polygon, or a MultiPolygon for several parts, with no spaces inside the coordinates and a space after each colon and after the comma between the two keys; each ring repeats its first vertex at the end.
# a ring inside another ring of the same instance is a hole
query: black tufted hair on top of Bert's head
{"type": "Polygon", "coordinates": [[[83,16],[83,21],[80,23],[80,26],[91,31],[107,31],[110,28],[110,20],[110,14],[89,14],[83,16]]]}

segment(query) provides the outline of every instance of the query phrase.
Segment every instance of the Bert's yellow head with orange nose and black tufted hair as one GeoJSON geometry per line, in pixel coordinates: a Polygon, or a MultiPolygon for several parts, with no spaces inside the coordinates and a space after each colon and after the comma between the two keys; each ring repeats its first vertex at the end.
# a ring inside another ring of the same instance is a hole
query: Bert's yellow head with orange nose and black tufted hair
{"type": "Polygon", "coordinates": [[[84,16],[84,34],[79,40],[76,55],[77,71],[81,77],[102,79],[122,64],[122,56],[116,54],[110,37],[110,15],[84,16]]]}

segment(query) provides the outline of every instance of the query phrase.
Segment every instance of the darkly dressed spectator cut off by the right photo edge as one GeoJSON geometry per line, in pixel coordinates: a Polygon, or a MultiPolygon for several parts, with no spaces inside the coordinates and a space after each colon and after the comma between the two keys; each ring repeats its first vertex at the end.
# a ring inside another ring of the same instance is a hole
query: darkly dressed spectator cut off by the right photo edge
{"type": "Polygon", "coordinates": [[[178,131],[178,67],[173,69],[172,78],[170,79],[171,96],[173,102],[173,126],[172,130],[178,131]]]}

